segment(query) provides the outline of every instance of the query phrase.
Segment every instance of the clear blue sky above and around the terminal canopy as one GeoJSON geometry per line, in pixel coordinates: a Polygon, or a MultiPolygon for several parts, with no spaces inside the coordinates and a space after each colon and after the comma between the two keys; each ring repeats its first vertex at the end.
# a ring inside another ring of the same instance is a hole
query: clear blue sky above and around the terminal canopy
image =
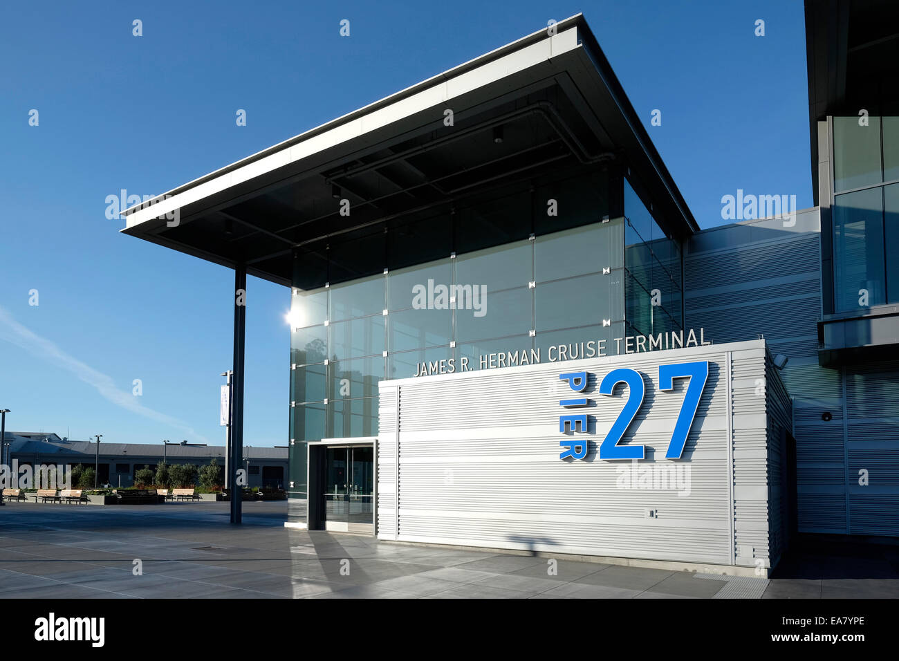
{"type": "MultiPolygon", "coordinates": [[[[7,431],[223,444],[233,274],[121,235],[106,196],[168,191],[578,12],[701,227],[725,222],[721,197],[737,189],[812,205],[799,0],[5,6],[7,431]]],[[[289,290],[254,278],[247,289],[245,443],[283,445],[289,290]]]]}

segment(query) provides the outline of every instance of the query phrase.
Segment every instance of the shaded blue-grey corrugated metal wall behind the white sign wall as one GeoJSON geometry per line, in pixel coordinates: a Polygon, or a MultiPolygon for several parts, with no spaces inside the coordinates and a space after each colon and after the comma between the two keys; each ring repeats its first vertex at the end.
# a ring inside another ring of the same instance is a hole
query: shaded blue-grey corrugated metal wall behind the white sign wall
{"type": "Polygon", "coordinates": [[[687,326],[716,343],[761,334],[788,357],[780,376],[794,398],[798,528],[847,532],[841,375],[817,358],[820,251],[817,210],[793,228],[767,219],[699,232],[684,259],[684,307],[687,326]]]}

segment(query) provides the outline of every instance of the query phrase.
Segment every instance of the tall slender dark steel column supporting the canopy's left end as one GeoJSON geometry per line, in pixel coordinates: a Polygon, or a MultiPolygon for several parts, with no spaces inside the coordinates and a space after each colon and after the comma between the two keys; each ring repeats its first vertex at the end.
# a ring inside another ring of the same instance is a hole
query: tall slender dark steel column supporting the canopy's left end
{"type": "Polygon", "coordinates": [[[231,523],[241,523],[242,485],[237,481],[244,448],[244,353],[246,340],[246,264],[234,270],[234,377],[231,380],[231,456],[228,484],[231,494],[231,523]]]}

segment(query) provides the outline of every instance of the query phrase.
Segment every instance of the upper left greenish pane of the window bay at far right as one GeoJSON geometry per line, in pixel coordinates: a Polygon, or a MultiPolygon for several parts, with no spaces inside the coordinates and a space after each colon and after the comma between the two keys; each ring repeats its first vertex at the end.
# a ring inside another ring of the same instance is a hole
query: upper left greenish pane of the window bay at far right
{"type": "Polygon", "coordinates": [[[883,181],[880,171],[880,118],[833,118],[834,192],[848,191],[883,181]]]}

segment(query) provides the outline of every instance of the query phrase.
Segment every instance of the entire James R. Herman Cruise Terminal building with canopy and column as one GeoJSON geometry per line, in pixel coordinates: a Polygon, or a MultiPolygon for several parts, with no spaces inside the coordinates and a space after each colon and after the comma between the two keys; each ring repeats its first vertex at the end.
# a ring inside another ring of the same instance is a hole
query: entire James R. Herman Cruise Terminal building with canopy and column
{"type": "Polygon", "coordinates": [[[895,40],[830,4],[812,209],[700,230],[576,15],[127,210],[290,288],[287,525],[750,575],[899,534],[895,40]]]}

